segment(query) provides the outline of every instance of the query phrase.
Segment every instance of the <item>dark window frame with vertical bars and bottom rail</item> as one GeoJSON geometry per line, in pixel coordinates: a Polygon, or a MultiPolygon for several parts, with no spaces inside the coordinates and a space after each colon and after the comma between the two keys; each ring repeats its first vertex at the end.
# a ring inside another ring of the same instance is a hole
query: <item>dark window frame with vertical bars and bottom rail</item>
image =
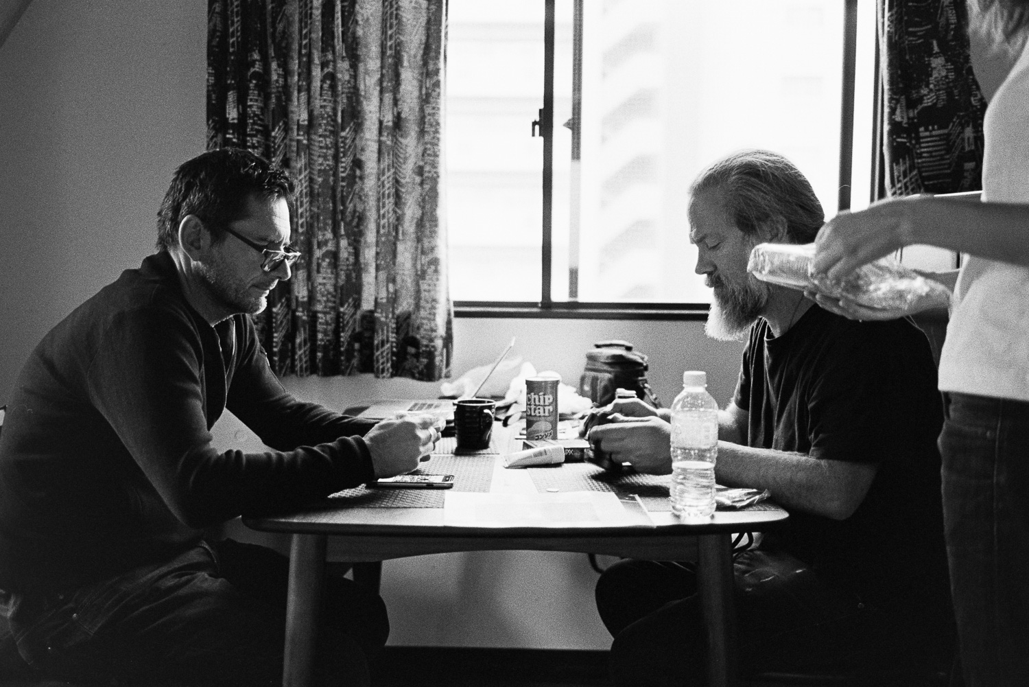
{"type": "MultiPolygon", "coordinates": [[[[570,0],[573,3],[573,73],[572,119],[568,123],[572,130],[572,156],[579,134],[582,50],[582,10],[584,0],[570,0]]],[[[851,173],[854,154],[854,91],[857,65],[857,3],[858,0],[842,0],[844,3],[843,40],[843,82],[840,99],[840,175],[837,210],[851,207],[851,173]]],[[[558,319],[639,319],[639,320],[707,320],[710,305],[707,303],[624,303],[583,302],[577,300],[553,300],[553,198],[554,198],[554,50],[557,0],[544,0],[543,19],[543,106],[539,119],[533,122],[533,131],[538,128],[543,139],[542,168],[542,222],[541,222],[541,283],[539,301],[454,301],[455,317],[521,317],[558,319]]],[[[876,90],[874,100],[877,112],[879,101],[879,36],[876,35],[876,90]]],[[[875,117],[876,113],[873,113],[875,117]]],[[[874,127],[876,123],[874,122],[874,127]]],[[[878,133],[878,132],[877,132],[878,133]]],[[[535,133],[533,135],[536,135],[535,133]]],[[[877,137],[873,136],[873,141],[877,137]]],[[[880,151],[881,154],[881,151],[880,151]]],[[[881,183],[880,161],[873,150],[872,193],[881,183]],[[878,182],[878,183],[877,183],[878,182]]],[[[577,275],[569,283],[569,294],[577,294],[577,275]]]]}

